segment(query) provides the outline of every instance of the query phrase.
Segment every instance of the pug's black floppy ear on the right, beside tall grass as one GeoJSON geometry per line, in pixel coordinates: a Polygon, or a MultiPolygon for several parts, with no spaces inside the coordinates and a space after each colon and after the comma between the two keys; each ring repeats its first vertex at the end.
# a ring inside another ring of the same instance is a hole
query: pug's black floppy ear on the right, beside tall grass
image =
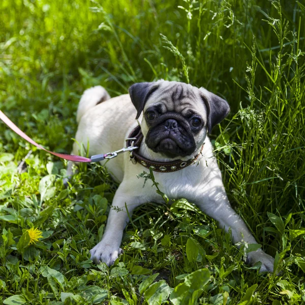
{"type": "Polygon", "coordinates": [[[204,88],[200,88],[201,98],[207,110],[207,130],[210,134],[213,127],[220,123],[230,112],[230,106],[227,101],[209,92],[204,88]]]}

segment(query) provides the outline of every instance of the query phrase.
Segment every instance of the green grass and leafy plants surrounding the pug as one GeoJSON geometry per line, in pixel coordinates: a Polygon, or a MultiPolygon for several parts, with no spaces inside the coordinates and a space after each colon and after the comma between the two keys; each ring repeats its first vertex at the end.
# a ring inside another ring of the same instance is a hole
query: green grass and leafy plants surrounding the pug
{"type": "Polygon", "coordinates": [[[70,153],[92,85],[116,96],[164,78],[225,97],[231,113],[211,135],[225,188],[277,267],[246,265],[229,234],[185,201],[139,207],[124,255],[96,266],[89,249],[117,185],[82,165],[65,189],[66,162],[0,123],[0,304],[177,304],[182,291],[199,304],[305,302],[305,6],[281,4],[0,2],[0,109],[51,150],[70,153]],[[32,227],[43,238],[28,245],[32,227]]]}

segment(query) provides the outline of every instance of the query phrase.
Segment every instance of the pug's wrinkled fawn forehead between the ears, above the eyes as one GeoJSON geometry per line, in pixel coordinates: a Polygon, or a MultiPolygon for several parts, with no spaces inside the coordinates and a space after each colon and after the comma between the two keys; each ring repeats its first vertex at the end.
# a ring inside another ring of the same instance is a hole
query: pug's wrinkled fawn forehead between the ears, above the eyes
{"type": "Polygon", "coordinates": [[[144,111],[152,107],[160,113],[173,111],[187,116],[193,112],[206,117],[206,109],[199,89],[185,83],[165,82],[161,84],[147,100],[144,111]]]}

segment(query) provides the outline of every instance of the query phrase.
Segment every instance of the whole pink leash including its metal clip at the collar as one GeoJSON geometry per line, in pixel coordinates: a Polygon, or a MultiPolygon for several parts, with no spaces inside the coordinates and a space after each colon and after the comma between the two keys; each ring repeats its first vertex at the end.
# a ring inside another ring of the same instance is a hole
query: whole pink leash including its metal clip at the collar
{"type": "MultiPolygon", "coordinates": [[[[74,162],[98,162],[102,161],[104,159],[112,159],[116,157],[118,154],[125,153],[125,151],[133,151],[135,149],[138,149],[137,146],[134,146],[134,141],[131,142],[131,145],[129,147],[124,147],[119,150],[112,151],[111,153],[107,154],[100,154],[100,155],[94,155],[91,156],[91,158],[85,158],[81,156],[75,156],[75,155],[68,155],[68,154],[59,154],[59,153],[54,153],[53,151],[50,151],[48,149],[45,149],[38,143],[36,143],[34,140],[32,140],[30,137],[28,137],[23,131],[21,131],[1,110],[0,110],[0,119],[3,120],[3,122],[11,129],[13,130],[17,135],[25,139],[27,142],[35,145],[36,147],[43,149],[47,151],[47,153],[54,155],[58,158],[69,160],[69,161],[74,161],[74,162]]],[[[134,138],[128,138],[126,140],[134,140],[134,138]]]]}

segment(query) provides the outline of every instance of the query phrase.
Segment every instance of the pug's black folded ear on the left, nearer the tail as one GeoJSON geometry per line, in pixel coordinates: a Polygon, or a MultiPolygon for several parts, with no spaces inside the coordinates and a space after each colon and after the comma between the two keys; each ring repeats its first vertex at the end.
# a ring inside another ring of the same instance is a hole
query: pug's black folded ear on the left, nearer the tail
{"type": "Polygon", "coordinates": [[[137,109],[136,119],[139,118],[147,99],[159,88],[159,84],[156,82],[142,82],[133,84],[129,88],[129,95],[131,101],[137,109]]]}

